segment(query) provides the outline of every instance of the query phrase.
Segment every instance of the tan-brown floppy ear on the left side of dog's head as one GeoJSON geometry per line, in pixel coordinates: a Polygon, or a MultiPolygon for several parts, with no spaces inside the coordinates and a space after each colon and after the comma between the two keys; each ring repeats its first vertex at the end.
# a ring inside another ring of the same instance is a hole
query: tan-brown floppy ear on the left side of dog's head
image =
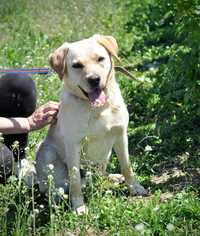
{"type": "Polygon", "coordinates": [[[57,48],[55,52],[49,55],[49,64],[58,73],[59,78],[62,80],[65,68],[65,57],[69,49],[69,44],[64,43],[62,46],[57,48]]]}

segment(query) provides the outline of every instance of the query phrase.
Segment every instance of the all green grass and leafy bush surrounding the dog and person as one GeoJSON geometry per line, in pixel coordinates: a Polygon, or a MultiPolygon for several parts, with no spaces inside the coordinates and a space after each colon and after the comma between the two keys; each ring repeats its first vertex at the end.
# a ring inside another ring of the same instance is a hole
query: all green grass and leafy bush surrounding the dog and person
{"type": "MultiPolygon", "coordinates": [[[[130,112],[132,165],[150,190],[92,176],[89,214],[70,211],[14,177],[0,186],[0,235],[200,235],[200,5],[198,0],[1,0],[0,67],[48,66],[64,41],[113,35],[122,64],[144,83],[117,74],[130,112]]],[[[58,100],[56,75],[35,76],[38,105],[58,100]]],[[[47,129],[30,136],[30,158],[47,129]]],[[[113,155],[110,172],[118,172],[113,155]]]]}

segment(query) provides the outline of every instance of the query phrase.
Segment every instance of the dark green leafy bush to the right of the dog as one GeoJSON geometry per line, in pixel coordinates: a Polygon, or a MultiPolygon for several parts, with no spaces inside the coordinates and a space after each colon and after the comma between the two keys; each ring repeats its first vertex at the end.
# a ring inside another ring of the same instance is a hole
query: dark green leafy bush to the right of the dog
{"type": "MultiPolygon", "coordinates": [[[[132,37],[132,46],[122,47],[121,54],[152,82],[151,86],[129,84],[124,88],[131,121],[136,127],[155,122],[153,133],[162,140],[166,154],[189,151],[199,155],[198,1],[126,1],[121,3],[121,11],[125,9],[121,33],[132,37]]],[[[144,130],[143,136],[148,134],[144,130]]]]}

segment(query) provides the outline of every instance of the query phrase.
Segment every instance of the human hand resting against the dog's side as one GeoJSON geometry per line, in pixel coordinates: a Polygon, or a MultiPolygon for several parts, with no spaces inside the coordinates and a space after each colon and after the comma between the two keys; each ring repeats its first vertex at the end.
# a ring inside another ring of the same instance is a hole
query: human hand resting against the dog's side
{"type": "Polygon", "coordinates": [[[57,119],[60,103],[48,102],[40,106],[28,117],[30,131],[43,128],[45,125],[53,124],[57,119]]]}

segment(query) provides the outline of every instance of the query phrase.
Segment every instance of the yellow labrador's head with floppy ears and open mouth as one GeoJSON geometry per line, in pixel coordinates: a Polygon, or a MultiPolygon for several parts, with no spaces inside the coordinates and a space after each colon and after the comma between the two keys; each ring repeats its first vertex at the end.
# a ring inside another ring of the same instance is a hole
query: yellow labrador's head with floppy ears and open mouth
{"type": "Polygon", "coordinates": [[[94,35],[74,43],[64,43],[49,56],[51,67],[73,94],[88,99],[93,106],[106,102],[105,88],[113,75],[118,46],[112,36],[94,35]]]}

